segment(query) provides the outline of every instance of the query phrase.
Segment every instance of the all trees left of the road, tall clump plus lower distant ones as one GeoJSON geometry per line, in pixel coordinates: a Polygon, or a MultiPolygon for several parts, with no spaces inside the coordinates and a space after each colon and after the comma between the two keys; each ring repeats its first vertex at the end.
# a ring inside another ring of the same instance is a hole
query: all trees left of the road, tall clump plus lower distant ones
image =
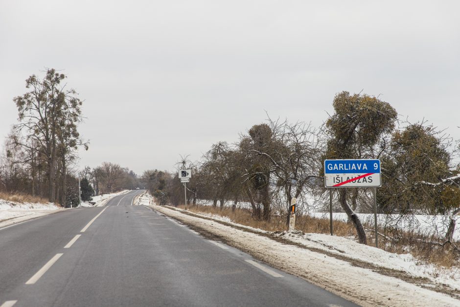
{"type": "Polygon", "coordinates": [[[79,176],[84,201],[94,194],[138,188],[137,175],[114,163],[76,170],[78,148],[88,150],[89,142],[78,131],[83,101],[66,78],[54,69],[46,70],[43,78],[31,75],[25,81],[26,93],[13,98],[18,121],[0,153],[0,191],[30,194],[68,207],[79,201],[79,176]]]}

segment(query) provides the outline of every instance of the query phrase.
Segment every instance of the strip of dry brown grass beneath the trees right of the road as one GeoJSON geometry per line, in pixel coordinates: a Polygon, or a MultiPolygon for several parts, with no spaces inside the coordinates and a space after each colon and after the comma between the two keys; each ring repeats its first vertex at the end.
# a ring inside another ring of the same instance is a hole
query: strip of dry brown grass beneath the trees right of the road
{"type": "MultiPolygon", "coordinates": [[[[184,205],[178,206],[178,208],[184,209],[184,205]]],[[[272,215],[270,221],[260,221],[254,219],[247,210],[236,209],[233,212],[229,207],[224,207],[221,210],[220,207],[189,205],[187,206],[187,210],[193,213],[210,213],[228,217],[234,223],[270,232],[285,231],[288,228],[286,226],[286,216],[272,215]]],[[[367,226],[368,229],[373,228],[373,225],[367,226]]],[[[333,221],[333,227],[335,236],[356,236],[356,231],[351,223],[333,221]]],[[[304,233],[330,234],[329,220],[308,215],[297,215],[296,230],[300,230],[304,233]]],[[[383,233],[384,230],[379,230],[379,232],[383,233]]],[[[386,235],[392,237],[394,234],[387,232],[386,235]]],[[[425,236],[416,232],[399,233],[399,237],[400,239],[398,240],[389,240],[379,236],[379,248],[396,254],[411,253],[414,258],[422,262],[432,263],[445,268],[460,265],[459,253],[454,251],[449,244],[440,246],[430,243],[437,242],[434,237],[425,236]]],[[[373,232],[368,232],[368,245],[375,246],[375,236],[373,232]]]]}

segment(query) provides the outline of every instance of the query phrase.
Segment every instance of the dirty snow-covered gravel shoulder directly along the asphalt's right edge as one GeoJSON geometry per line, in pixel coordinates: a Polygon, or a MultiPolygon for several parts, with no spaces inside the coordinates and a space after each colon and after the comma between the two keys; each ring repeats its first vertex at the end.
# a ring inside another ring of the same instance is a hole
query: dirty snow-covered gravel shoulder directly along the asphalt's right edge
{"type": "Polygon", "coordinates": [[[449,293],[454,296],[451,297],[433,291],[427,288],[433,287],[428,280],[416,281],[403,278],[401,274],[403,272],[379,268],[356,260],[340,259],[332,253],[313,251],[295,242],[194,213],[160,206],[149,207],[181,221],[203,236],[221,240],[273,267],[363,306],[458,306],[459,304],[455,292],[449,293]],[[422,287],[425,283],[428,283],[427,287],[422,287]]]}

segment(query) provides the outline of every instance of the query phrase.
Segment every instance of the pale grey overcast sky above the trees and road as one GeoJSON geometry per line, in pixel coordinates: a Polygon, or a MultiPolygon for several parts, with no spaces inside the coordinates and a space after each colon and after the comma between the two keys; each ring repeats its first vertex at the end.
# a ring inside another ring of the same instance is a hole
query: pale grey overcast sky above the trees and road
{"type": "MultiPolygon", "coordinates": [[[[0,0],[0,138],[45,68],[84,99],[80,165],[173,169],[271,117],[381,94],[460,138],[460,1],[0,0]]],[[[42,74],[43,75],[43,74],[42,74]]]]}

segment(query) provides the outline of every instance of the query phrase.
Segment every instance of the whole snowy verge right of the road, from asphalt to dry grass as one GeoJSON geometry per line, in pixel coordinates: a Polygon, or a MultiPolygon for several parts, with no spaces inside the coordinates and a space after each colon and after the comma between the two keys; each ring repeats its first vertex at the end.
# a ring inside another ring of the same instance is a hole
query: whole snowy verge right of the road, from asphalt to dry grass
{"type": "Polygon", "coordinates": [[[259,260],[363,306],[460,306],[459,300],[428,289],[437,289],[446,284],[450,286],[449,292],[454,293],[460,289],[458,270],[441,270],[421,264],[410,254],[388,253],[339,236],[296,231],[252,231],[250,227],[238,224],[235,224],[238,225],[236,229],[221,224],[220,221],[229,221],[220,216],[203,214],[204,217],[214,219],[208,220],[200,218],[200,214],[190,216],[177,209],[160,206],[152,208],[185,224],[203,228],[259,260]],[[278,242],[276,238],[283,239],[284,243],[278,242]],[[287,241],[300,246],[286,244],[287,241]],[[426,280],[417,282],[418,277],[426,280]]]}

